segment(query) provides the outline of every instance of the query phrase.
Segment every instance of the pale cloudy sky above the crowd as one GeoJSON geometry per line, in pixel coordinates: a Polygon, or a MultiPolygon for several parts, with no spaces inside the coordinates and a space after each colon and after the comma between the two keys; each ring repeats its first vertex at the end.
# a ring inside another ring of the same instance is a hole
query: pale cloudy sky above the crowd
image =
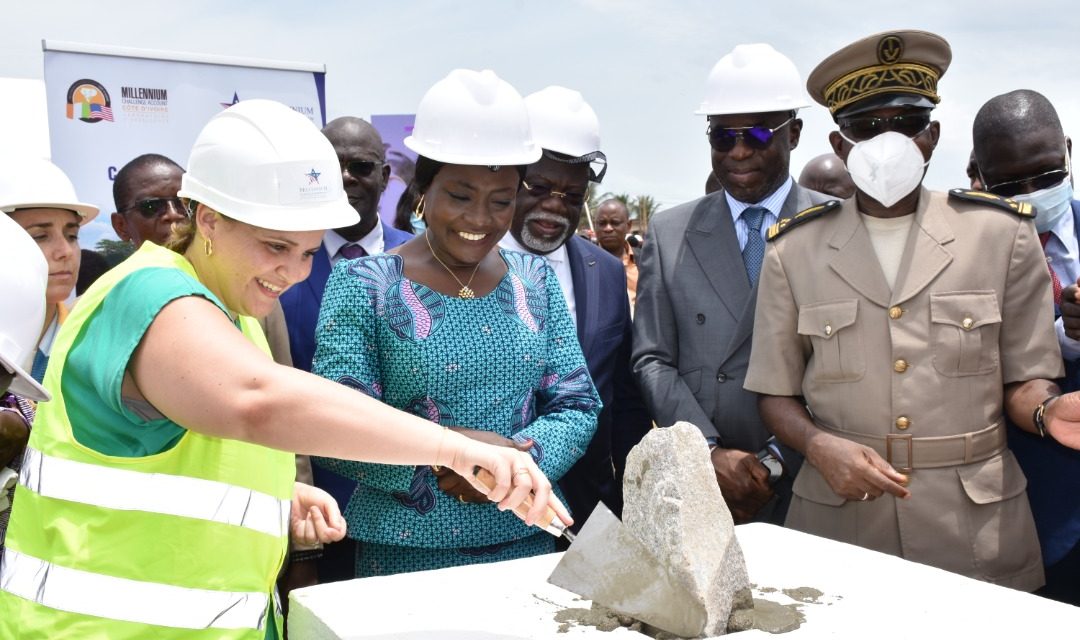
{"type": "MultiPolygon", "coordinates": [[[[411,113],[458,67],[494,69],[523,95],[576,88],[600,120],[610,165],[603,190],[648,194],[661,208],[704,193],[708,144],[693,111],[712,66],[740,43],[772,44],[805,79],[833,52],[878,31],[944,37],[953,65],[939,83],[932,189],[968,185],[972,120],[1001,93],[1044,94],[1066,135],[1080,135],[1080,12],[1059,0],[50,0],[4,2],[0,15],[0,77],[42,78],[42,39],[319,63],[329,119],[411,113]]],[[[831,151],[834,130],[816,104],[800,118],[796,177],[831,151]]]]}

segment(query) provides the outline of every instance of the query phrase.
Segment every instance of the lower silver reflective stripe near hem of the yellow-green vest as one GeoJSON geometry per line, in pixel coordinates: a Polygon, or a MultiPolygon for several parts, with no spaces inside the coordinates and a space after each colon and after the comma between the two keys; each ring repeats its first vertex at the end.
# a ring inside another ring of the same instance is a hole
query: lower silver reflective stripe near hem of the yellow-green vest
{"type": "Polygon", "coordinates": [[[5,549],[0,589],[51,609],[181,629],[266,629],[268,596],[102,575],[5,549]]]}

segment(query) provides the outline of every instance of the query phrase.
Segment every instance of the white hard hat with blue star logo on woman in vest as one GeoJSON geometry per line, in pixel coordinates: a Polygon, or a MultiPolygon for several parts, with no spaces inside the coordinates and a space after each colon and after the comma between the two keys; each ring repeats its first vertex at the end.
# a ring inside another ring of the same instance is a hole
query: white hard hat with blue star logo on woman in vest
{"type": "Polygon", "coordinates": [[[360,221],[329,140],[273,100],[243,100],[211,118],[195,138],[177,195],[275,231],[360,221]]]}

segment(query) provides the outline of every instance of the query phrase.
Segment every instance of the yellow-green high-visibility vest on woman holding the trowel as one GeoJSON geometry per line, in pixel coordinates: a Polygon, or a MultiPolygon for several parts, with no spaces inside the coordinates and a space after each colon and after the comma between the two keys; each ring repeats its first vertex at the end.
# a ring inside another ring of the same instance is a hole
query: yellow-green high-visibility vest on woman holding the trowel
{"type": "MultiPolygon", "coordinates": [[[[141,458],[80,445],[60,377],[83,325],[130,273],[181,256],[144,247],[82,297],[53,345],[0,563],[0,638],[281,637],[294,455],[188,431],[141,458]]],[[[269,353],[254,318],[240,328],[269,353]]],[[[166,367],[163,363],[162,367],[166,367]]],[[[215,372],[207,372],[208,376],[215,372]]],[[[191,398],[199,401],[199,398],[191,398]]]]}

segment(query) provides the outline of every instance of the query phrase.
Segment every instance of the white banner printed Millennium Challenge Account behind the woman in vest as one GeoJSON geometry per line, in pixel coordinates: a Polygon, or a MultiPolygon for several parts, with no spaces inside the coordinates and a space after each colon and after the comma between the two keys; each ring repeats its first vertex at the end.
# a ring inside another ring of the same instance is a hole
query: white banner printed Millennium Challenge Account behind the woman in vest
{"type": "Polygon", "coordinates": [[[132,159],[160,153],[187,165],[206,121],[240,100],[270,98],[326,120],[323,65],[276,63],[44,41],[52,159],[80,200],[102,208],[83,248],[116,237],[112,179],[132,159]]]}

